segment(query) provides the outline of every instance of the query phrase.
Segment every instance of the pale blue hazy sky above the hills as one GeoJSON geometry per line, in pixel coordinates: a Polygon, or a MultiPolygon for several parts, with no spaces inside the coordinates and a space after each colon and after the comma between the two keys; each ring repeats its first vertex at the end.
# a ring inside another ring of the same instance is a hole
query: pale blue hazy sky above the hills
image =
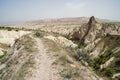
{"type": "Polygon", "coordinates": [[[0,0],[0,24],[83,16],[120,20],[120,0],[0,0]]]}

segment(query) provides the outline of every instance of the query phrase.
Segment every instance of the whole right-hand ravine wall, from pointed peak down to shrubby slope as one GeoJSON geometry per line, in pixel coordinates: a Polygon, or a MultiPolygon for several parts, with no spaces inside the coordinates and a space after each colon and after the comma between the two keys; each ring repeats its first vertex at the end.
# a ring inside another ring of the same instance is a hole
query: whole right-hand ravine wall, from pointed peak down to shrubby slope
{"type": "MultiPolygon", "coordinates": [[[[86,52],[89,59],[87,62],[101,75],[112,78],[120,73],[119,50],[120,50],[120,24],[98,23],[92,16],[88,23],[82,25],[72,33],[73,40],[85,45],[82,52],[86,52]]],[[[114,77],[115,80],[116,79],[114,77]]]]}

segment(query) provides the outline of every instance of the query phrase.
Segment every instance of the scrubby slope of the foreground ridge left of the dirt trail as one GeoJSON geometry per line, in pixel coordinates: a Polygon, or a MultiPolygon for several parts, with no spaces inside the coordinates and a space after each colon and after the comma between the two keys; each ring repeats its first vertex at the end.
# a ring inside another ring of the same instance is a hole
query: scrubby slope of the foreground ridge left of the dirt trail
{"type": "Polygon", "coordinates": [[[25,80],[28,68],[34,68],[37,48],[35,41],[26,35],[16,39],[7,55],[0,59],[0,80],[25,80]]]}

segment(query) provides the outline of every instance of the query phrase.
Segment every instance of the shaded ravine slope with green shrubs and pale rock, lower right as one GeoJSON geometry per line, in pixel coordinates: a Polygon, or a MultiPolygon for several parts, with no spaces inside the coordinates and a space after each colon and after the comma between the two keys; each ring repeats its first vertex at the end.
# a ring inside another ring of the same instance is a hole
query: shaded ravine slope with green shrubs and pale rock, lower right
{"type": "MultiPolygon", "coordinates": [[[[119,35],[107,35],[103,37],[97,45],[91,50],[92,63],[94,67],[100,73],[114,77],[115,74],[120,73],[120,36],[119,35]],[[96,52],[95,52],[96,51],[96,52]],[[92,56],[97,54],[97,58],[92,56]]],[[[119,80],[119,75],[116,76],[119,80]]]]}

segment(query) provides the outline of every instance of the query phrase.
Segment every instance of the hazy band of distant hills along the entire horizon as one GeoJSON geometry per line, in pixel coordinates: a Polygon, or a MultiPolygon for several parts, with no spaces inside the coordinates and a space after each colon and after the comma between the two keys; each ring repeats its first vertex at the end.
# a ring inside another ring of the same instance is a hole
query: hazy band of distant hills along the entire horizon
{"type": "MultiPolygon", "coordinates": [[[[109,19],[100,19],[96,18],[96,20],[100,23],[104,22],[119,22],[116,20],[109,20],[109,19]]],[[[16,21],[16,22],[0,22],[0,26],[9,26],[9,25],[44,25],[44,24],[82,24],[89,21],[89,17],[70,17],[70,18],[54,18],[54,19],[40,19],[34,21],[16,21]]]]}

